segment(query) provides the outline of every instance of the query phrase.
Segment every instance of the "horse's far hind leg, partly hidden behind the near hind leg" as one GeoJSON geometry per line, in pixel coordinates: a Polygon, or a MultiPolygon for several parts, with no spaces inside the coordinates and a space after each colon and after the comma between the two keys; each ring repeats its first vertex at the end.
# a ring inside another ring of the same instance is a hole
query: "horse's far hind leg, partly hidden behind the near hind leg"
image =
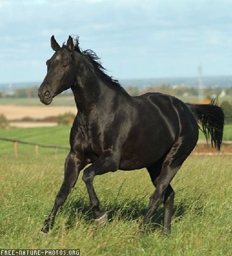
{"type": "MultiPolygon", "coordinates": [[[[164,162],[164,158],[159,159],[158,162],[151,165],[150,167],[147,167],[148,173],[150,174],[150,177],[151,177],[151,181],[155,187],[156,187],[156,180],[161,174],[161,168],[164,162]]],[[[162,203],[164,203],[163,230],[165,233],[170,233],[174,195],[175,195],[174,190],[169,184],[169,186],[164,192],[164,197],[161,200],[162,203]]]]}

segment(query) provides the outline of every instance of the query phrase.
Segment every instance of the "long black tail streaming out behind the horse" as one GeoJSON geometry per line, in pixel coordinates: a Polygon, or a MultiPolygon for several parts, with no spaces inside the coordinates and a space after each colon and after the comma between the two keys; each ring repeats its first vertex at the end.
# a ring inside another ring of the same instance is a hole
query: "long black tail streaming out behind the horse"
{"type": "Polygon", "coordinates": [[[210,104],[186,104],[202,126],[206,140],[211,137],[211,145],[220,150],[223,137],[224,113],[217,100],[210,104]]]}

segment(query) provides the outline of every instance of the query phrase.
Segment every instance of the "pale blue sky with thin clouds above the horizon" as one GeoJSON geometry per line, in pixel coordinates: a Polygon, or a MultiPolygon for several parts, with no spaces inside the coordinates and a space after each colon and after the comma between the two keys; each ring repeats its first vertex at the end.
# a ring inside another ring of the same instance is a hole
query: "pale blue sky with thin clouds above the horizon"
{"type": "Polygon", "coordinates": [[[79,36],[117,79],[232,75],[231,0],[0,0],[0,83],[42,81],[79,36]]]}

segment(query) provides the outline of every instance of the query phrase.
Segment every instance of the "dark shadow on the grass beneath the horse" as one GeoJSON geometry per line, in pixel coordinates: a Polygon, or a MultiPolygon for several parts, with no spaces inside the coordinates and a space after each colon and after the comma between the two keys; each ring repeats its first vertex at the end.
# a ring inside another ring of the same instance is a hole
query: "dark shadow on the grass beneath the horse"
{"type": "MultiPolygon", "coordinates": [[[[123,200],[123,201],[112,201],[107,206],[108,220],[111,222],[114,219],[118,220],[137,220],[141,222],[141,217],[147,213],[148,207],[140,203],[138,200],[123,200]]],[[[185,214],[186,206],[183,203],[173,207],[173,217],[178,221],[185,214]]],[[[67,214],[68,220],[66,223],[67,230],[74,227],[76,220],[84,219],[85,222],[92,222],[93,214],[89,204],[87,204],[86,198],[78,198],[69,200],[60,211],[60,214],[67,214]]],[[[164,214],[164,207],[160,206],[150,222],[151,230],[160,228],[162,226],[162,218],[164,214]]]]}

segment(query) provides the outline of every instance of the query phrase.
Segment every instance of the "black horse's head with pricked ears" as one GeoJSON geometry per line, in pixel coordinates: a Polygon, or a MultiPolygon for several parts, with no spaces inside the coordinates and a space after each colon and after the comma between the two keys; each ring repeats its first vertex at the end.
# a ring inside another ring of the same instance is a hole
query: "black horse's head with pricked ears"
{"type": "Polygon", "coordinates": [[[56,52],[46,61],[47,74],[38,89],[38,97],[46,105],[60,92],[73,86],[76,80],[73,39],[69,36],[67,45],[60,47],[52,36],[51,48],[56,52]]]}

